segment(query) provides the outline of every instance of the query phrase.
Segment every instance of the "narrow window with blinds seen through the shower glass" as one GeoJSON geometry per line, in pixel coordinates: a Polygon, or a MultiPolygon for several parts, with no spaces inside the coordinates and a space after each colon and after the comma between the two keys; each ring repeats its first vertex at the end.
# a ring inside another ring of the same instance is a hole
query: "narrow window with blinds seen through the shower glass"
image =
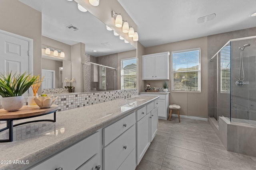
{"type": "Polygon", "coordinates": [[[220,92],[230,92],[230,46],[220,51],[220,92]]]}

